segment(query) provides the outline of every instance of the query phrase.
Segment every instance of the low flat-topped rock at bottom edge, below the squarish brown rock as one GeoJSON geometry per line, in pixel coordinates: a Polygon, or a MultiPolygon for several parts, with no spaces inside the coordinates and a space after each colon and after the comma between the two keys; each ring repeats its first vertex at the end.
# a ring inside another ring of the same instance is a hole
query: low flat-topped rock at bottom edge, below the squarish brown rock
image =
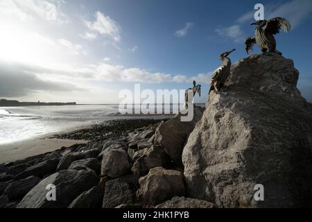
{"type": "Polygon", "coordinates": [[[175,196],[171,200],[167,200],[161,203],[155,208],[213,208],[214,204],[209,203],[206,200],[197,200],[192,198],[185,198],[180,196],[175,196]]]}

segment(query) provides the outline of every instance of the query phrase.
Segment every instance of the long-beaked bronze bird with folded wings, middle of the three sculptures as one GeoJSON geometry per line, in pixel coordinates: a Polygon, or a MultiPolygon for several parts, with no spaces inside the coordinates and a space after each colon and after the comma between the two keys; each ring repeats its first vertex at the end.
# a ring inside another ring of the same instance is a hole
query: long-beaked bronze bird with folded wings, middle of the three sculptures
{"type": "Polygon", "coordinates": [[[226,51],[220,55],[219,60],[223,61],[222,65],[214,71],[214,74],[211,78],[211,87],[209,90],[209,94],[211,90],[216,90],[217,93],[220,93],[220,88],[223,87],[227,77],[229,76],[229,69],[231,68],[231,60],[227,58],[230,53],[235,51],[235,49],[231,51],[226,51]]]}

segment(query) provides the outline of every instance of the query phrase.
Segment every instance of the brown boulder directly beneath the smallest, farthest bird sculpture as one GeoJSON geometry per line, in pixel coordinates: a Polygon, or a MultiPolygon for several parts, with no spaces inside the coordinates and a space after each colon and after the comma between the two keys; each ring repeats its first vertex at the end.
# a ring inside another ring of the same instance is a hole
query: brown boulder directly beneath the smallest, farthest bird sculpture
{"type": "Polygon", "coordinates": [[[181,114],[177,114],[168,121],[160,123],[155,132],[154,144],[162,146],[177,166],[182,166],[182,151],[187,137],[202,117],[202,111],[198,107],[194,107],[193,113],[192,121],[181,121],[181,114]]]}

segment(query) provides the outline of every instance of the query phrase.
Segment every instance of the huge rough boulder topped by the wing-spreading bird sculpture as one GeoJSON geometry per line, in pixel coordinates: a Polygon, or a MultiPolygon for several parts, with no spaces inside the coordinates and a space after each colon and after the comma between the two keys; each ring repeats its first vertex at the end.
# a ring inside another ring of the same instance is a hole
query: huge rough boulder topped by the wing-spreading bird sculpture
{"type": "Polygon", "coordinates": [[[189,197],[217,207],[306,207],[312,200],[312,105],[293,61],[254,55],[211,92],[183,151],[189,197]],[[255,201],[254,187],[264,187],[255,201]]]}

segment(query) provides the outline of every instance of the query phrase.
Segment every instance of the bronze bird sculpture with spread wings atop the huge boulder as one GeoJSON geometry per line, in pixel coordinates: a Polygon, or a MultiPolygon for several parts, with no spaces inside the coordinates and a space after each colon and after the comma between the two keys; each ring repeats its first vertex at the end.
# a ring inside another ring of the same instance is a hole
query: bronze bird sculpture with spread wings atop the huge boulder
{"type": "Polygon", "coordinates": [[[246,51],[249,54],[252,51],[252,46],[258,44],[262,53],[278,53],[281,55],[281,52],[276,49],[276,41],[274,35],[279,33],[281,26],[283,26],[284,31],[287,33],[291,30],[291,24],[281,17],[276,17],[274,19],[259,20],[250,25],[256,25],[256,31],[254,37],[248,37],[245,40],[246,51]],[[264,28],[264,26],[266,26],[264,28]]]}

